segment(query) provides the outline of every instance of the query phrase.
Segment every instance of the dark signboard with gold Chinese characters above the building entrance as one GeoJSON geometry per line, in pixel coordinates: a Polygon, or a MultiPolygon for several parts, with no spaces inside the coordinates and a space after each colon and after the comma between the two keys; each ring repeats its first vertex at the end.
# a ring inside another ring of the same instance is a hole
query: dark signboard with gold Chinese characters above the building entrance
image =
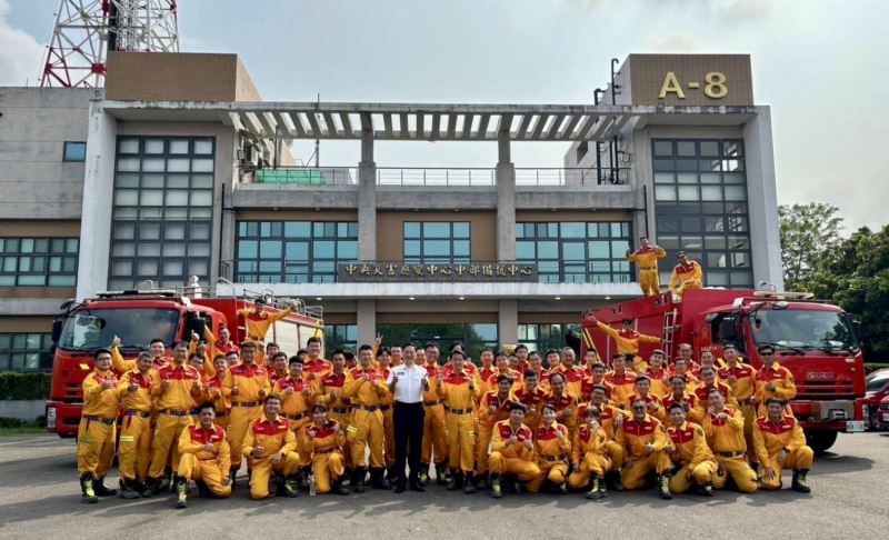
{"type": "Polygon", "coordinates": [[[531,282],[538,280],[537,264],[527,262],[343,262],[337,267],[339,283],[381,282],[531,282]]]}

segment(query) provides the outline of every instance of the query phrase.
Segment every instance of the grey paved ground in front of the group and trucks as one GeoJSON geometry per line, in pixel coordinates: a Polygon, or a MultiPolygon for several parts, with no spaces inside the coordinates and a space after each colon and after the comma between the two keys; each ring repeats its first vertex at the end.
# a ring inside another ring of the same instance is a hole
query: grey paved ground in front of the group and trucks
{"type": "Polygon", "coordinates": [[[172,496],[82,504],[72,441],[4,437],[0,538],[887,538],[889,434],[843,434],[832,450],[809,476],[810,496],[718,492],[713,499],[661,501],[650,490],[611,493],[600,503],[582,494],[495,501],[488,493],[465,496],[432,487],[426,493],[303,493],[256,502],[241,488],[228,500],[192,496],[190,508],[176,510],[172,496]]]}

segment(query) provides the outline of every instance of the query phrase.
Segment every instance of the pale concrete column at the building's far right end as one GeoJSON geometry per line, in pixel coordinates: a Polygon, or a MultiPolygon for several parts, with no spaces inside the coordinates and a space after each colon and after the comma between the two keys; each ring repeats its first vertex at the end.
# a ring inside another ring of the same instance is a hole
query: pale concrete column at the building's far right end
{"type": "Polygon", "coordinates": [[[775,149],[771,140],[771,110],[757,107],[757,114],[743,127],[747,153],[747,201],[750,211],[750,248],[753,284],[773,283],[783,290],[781,237],[778,221],[778,192],[775,184],[775,149]]]}

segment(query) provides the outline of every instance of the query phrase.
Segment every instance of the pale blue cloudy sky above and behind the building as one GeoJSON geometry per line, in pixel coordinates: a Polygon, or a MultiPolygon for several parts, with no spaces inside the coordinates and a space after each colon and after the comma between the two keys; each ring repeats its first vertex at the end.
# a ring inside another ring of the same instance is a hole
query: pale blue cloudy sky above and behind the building
{"type": "MultiPolygon", "coordinates": [[[[180,0],[186,51],[237,52],[267,100],[582,103],[630,52],[752,56],[782,203],[881,227],[889,200],[889,2],[880,0],[180,0]]],[[[31,83],[58,0],[0,0],[0,84],[31,83]]],[[[311,146],[296,144],[308,159],[311,146]]],[[[523,167],[566,146],[517,144],[523,167]]],[[[321,162],[358,162],[324,142],[321,162]]],[[[489,167],[493,144],[378,143],[381,166],[489,167]]]]}

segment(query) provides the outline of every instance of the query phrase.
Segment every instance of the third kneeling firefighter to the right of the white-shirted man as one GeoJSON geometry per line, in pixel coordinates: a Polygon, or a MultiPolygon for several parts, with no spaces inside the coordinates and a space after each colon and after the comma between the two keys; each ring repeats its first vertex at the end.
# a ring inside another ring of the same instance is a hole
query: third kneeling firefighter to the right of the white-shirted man
{"type": "Polygon", "coordinates": [[[601,411],[598,407],[588,407],[585,421],[578,427],[571,444],[571,462],[573,471],[568,477],[568,487],[585,489],[588,486],[587,499],[599,500],[608,497],[605,474],[611,469],[608,458],[608,436],[599,423],[601,411]],[[590,479],[592,483],[590,483],[590,479]]]}

